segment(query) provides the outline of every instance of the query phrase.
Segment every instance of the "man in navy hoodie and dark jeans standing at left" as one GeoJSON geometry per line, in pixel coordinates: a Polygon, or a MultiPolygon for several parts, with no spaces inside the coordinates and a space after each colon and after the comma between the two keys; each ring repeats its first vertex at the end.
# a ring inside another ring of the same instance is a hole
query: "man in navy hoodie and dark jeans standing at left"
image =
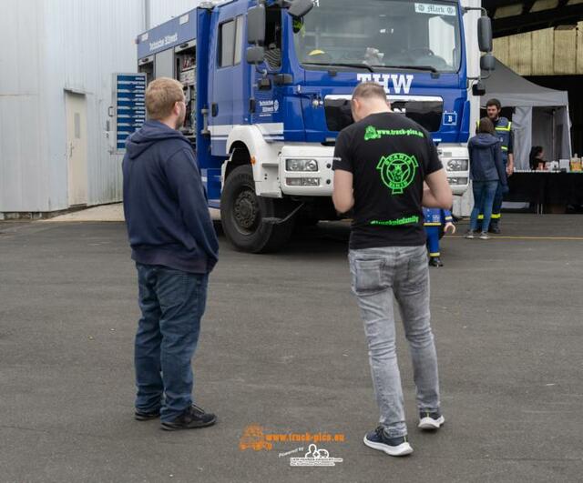
{"type": "Polygon", "coordinates": [[[148,121],[128,138],[124,213],[138,268],[135,417],[167,430],[202,428],[216,416],[192,402],[191,359],[219,243],[199,167],[179,132],[182,85],[159,78],[146,91],[148,121]]]}

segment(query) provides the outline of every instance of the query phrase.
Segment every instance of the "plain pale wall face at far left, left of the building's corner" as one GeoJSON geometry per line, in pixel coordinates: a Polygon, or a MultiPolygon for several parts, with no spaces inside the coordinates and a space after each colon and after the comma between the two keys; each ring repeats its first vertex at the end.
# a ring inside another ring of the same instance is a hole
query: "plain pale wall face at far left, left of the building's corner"
{"type": "Polygon", "coordinates": [[[0,211],[46,208],[46,179],[36,176],[48,167],[38,6],[36,0],[11,2],[0,15],[0,211]]]}

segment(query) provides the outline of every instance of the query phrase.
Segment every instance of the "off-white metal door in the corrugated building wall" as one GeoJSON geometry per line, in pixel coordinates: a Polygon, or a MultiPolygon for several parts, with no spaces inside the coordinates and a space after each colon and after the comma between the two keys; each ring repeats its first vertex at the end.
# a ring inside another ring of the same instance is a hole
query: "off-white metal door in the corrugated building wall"
{"type": "Polygon", "coordinates": [[[69,206],[87,205],[87,99],[66,91],[65,106],[69,206]]]}

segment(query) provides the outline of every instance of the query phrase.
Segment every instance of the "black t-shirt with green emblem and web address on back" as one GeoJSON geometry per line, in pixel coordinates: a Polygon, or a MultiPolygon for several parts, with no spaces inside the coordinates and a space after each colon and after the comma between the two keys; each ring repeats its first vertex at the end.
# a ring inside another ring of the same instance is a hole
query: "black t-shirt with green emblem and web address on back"
{"type": "Polygon", "coordinates": [[[343,129],[332,168],[353,173],[350,248],[424,245],[423,182],[442,167],[429,133],[401,114],[373,114],[343,129]]]}

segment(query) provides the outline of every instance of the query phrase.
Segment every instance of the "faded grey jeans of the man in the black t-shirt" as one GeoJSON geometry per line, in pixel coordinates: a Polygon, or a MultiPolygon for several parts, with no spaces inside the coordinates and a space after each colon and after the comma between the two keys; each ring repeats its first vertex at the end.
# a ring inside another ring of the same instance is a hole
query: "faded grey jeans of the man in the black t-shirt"
{"type": "Polygon", "coordinates": [[[368,341],[380,423],[389,438],[407,434],[403,388],[397,364],[394,298],[413,358],[417,408],[439,411],[439,377],[429,314],[429,269],[421,247],[350,250],[352,288],[358,298],[368,341]]]}

